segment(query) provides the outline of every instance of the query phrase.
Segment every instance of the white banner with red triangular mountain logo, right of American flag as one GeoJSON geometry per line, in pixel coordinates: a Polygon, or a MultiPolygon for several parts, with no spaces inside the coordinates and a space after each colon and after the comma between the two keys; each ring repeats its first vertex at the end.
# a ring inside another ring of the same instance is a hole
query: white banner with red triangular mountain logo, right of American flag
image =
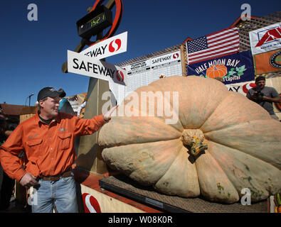
{"type": "Polygon", "coordinates": [[[281,48],[281,22],[249,32],[252,55],[281,48]]]}

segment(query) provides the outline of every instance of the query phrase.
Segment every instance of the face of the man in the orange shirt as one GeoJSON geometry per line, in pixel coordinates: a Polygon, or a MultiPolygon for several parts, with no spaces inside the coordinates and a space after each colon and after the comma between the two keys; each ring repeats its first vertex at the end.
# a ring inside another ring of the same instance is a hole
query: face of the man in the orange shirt
{"type": "Polygon", "coordinates": [[[53,118],[58,115],[58,107],[60,106],[60,97],[51,98],[48,97],[45,101],[40,100],[41,113],[53,118]]]}

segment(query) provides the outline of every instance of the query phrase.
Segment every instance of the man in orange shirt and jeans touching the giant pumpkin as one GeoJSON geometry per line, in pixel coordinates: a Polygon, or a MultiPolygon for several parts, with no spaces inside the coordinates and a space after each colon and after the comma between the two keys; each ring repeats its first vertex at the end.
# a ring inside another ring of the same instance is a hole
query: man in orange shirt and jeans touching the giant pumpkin
{"type": "Polygon", "coordinates": [[[81,119],[58,111],[59,96],[53,87],[41,89],[36,116],[19,124],[0,147],[1,165],[6,174],[23,187],[35,189],[33,212],[52,212],[53,203],[58,212],[78,212],[71,172],[76,159],[75,137],[95,133],[110,121],[117,107],[92,119],[81,119]],[[21,150],[28,160],[26,169],[18,159],[21,150]]]}

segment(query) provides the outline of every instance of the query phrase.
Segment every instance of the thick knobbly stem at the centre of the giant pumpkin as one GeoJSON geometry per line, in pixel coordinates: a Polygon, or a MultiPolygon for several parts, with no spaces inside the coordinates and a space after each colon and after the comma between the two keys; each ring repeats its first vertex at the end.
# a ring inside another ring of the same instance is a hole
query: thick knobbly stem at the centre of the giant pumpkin
{"type": "Polygon", "coordinates": [[[208,145],[203,143],[204,135],[200,129],[185,129],[181,135],[181,140],[191,148],[191,154],[197,156],[201,151],[208,149],[208,145]]]}

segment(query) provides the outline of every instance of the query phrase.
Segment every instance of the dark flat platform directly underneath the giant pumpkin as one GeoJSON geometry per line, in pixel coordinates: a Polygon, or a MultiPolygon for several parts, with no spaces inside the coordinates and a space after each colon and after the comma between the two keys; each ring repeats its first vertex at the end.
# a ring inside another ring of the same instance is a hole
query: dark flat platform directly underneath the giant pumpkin
{"type": "Polygon", "coordinates": [[[267,200],[245,205],[218,204],[203,198],[186,199],[156,192],[152,187],[143,187],[124,175],[100,179],[100,187],[129,199],[153,206],[161,211],[193,213],[267,213],[267,200]]]}

